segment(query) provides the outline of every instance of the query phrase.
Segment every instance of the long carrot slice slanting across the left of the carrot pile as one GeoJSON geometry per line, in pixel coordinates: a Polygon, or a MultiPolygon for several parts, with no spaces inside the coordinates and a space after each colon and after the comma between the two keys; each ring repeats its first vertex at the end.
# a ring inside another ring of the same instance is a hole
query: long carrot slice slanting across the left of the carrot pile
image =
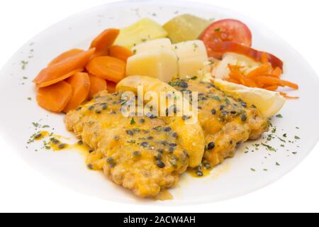
{"type": "Polygon", "coordinates": [[[60,63],[52,65],[42,70],[33,82],[38,84],[38,87],[47,87],[57,82],[60,82],[68,77],[72,77],[70,74],[74,70],[79,70],[85,67],[89,62],[91,55],[94,54],[95,49],[80,52],[73,57],[69,57],[62,60],[60,63]]]}

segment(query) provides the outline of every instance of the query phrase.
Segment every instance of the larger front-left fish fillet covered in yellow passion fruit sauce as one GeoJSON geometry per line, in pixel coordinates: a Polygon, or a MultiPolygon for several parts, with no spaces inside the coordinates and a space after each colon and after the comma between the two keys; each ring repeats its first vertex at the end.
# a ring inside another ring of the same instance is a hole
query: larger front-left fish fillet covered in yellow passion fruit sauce
{"type": "Polygon", "coordinates": [[[94,149],[86,159],[90,169],[103,170],[113,182],[138,196],[157,196],[174,187],[189,167],[188,149],[204,149],[203,132],[198,126],[179,133],[183,127],[179,119],[166,121],[152,115],[125,118],[122,104],[121,93],[100,92],[89,103],[70,111],[65,124],[94,149]],[[181,145],[182,138],[191,138],[191,145],[181,145]]]}

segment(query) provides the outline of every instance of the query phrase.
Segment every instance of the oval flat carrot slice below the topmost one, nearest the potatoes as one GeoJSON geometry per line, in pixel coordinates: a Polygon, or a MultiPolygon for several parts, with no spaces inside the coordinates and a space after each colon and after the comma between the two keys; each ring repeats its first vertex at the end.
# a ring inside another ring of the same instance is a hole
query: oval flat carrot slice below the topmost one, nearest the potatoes
{"type": "Polygon", "coordinates": [[[86,70],[94,74],[96,77],[111,80],[112,82],[120,82],[125,77],[126,63],[115,57],[103,56],[94,57],[88,65],[86,70]]]}

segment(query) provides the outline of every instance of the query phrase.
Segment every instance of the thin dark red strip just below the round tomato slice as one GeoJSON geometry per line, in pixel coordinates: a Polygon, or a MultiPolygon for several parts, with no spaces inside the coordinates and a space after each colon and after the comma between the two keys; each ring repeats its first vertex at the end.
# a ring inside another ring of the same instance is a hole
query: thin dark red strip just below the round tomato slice
{"type": "MultiPolygon", "coordinates": [[[[234,42],[208,43],[208,49],[211,50],[211,52],[214,52],[215,55],[223,56],[226,52],[235,52],[240,55],[251,57],[252,59],[259,62],[262,60],[262,54],[267,53],[259,50],[254,50],[250,47],[234,42]]],[[[267,53],[267,55],[268,61],[272,64],[272,67],[274,69],[276,67],[279,67],[281,70],[283,70],[284,62],[282,62],[278,57],[272,54],[267,53]]]]}

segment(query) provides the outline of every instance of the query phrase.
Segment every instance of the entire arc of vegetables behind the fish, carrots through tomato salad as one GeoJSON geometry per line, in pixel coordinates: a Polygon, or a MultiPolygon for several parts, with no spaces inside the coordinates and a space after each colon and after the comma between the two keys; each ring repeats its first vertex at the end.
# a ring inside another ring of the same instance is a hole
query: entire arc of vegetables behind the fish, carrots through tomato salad
{"type": "Polygon", "coordinates": [[[67,113],[98,92],[114,92],[125,77],[138,74],[170,82],[198,77],[209,62],[211,78],[270,92],[279,87],[298,89],[281,79],[284,63],[278,57],[251,46],[252,32],[234,19],[211,23],[184,14],[161,26],[144,18],[121,30],[106,29],[88,50],[72,49],[57,56],[33,80],[37,101],[43,109],[67,113]]]}

